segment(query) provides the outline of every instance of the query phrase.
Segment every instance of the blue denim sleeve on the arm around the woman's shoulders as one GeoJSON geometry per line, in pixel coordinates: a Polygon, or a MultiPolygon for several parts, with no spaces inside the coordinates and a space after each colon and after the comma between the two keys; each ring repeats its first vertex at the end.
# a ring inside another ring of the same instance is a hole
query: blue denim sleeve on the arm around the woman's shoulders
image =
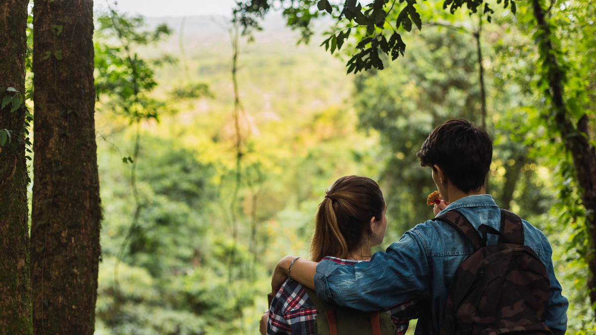
{"type": "Polygon", "coordinates": [[[316,295],[361,311],[375,311],[413,296],[427,296],[429,264],[425,246],[409,230],[386,252],[376,252],[370,262],[352,266],[321,261],[316,267],[316,295]]]}

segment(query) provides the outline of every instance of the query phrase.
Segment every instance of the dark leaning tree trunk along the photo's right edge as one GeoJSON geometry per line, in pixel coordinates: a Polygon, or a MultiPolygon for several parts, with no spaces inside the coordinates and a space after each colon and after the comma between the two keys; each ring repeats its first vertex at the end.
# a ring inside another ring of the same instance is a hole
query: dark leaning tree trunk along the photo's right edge
{"type": "MultiPolygon", "coordinates": [[[[545,12],[539,0],[532,2],[533,14],[541,30],[541,36],[536,39],[539,43],[539,51],[544,59],[545,68],[548,71],[545,79],[548,81],[550,95],[552,98],[551,126],[555,127],[561,134],[563,144],[572,156],[575,167],[576,180],[581,188],[581,198],[586,209],[586,227],[589,235],[588,246],[588,293],[592,306],[596,305],[596,152],[594,146],[589,142],[588,116],[583,115],[575,125],[572,122],[570,111],[564,102],[564,70],[557,63],[556,55],[560,53],[552,46],[550,38],[552,33],[545,18],[545,12]]],[[[595,316],[596,316],[596,310],[595,316]]]]}

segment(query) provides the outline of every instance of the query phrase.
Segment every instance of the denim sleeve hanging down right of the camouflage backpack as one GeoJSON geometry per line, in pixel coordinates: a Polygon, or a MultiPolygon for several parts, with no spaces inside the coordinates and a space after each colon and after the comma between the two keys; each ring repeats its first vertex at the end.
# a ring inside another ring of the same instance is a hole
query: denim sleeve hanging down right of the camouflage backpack
{"type": "Polygon", "coordinates": [[[567,308],[569,302],[562,294],[561,284],[555,277],[552,265],[552,248],[548,239],[541,232],[542,245],[544,246],[545,259],[542,260],[547,267],[548,278],[551,281],[551,292],[548,296],[548,310],[546,324],[551,328],[552,334],[563,335],[567,331],[567,308]]]}

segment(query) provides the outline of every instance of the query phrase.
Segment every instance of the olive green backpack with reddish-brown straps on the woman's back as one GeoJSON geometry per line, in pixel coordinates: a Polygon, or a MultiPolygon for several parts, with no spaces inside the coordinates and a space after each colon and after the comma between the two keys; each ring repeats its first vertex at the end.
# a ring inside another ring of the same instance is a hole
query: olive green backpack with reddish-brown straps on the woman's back
{"type": "Polygon", "coordinates": [[[391,315],[383,311],[362,312],[326,302],[305,287],[319,313],[315,317],[315,335],[396,335],[398,329],[391,315]]]}

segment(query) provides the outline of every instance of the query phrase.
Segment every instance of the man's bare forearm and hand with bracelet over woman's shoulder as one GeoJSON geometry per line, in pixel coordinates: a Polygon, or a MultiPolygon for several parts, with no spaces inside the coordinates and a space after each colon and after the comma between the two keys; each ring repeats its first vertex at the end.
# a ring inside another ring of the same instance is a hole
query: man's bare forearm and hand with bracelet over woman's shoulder
{"type": "MultiPolygon", "coordinates": [[[[271,278],[271,292],[277,293],[281,285],[288,278],[288,268],[296,256],[285,256],[275,266],[273,277],[271,278]]],[[[290,278],[303,284],[309,289],[315,289],[315,273],[317,262],[309,261],[308,259],[296,259],[290,272],[290,278]]]]}

